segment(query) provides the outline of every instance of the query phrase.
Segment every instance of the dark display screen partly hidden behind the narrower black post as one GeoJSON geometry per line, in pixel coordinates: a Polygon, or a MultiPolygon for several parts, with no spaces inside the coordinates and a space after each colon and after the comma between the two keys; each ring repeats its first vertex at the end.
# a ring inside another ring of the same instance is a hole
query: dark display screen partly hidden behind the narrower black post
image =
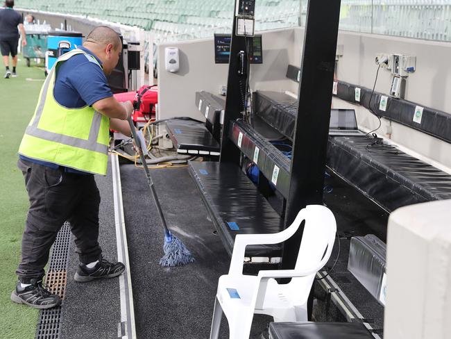
{"type": "MultiPolygon", "coordinates": [[[[214,63],[229,63],[230,42],[232,35],[214,35],[214,63]]],[[[263,63],[262,35],[255,35],[252,38],[252,45],[249,47],[249,60],[253,64],[263,63]]]]}

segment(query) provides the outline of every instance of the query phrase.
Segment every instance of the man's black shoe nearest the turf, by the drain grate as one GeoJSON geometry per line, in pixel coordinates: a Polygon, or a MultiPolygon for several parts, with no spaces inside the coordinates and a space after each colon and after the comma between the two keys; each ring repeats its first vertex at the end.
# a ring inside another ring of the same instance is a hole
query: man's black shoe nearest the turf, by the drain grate
{"type": "Polygon", "coordinates": [[[31,285],[22,288],[20,281],[11,293],[11,300],[17,304],[26,304],[33,308],[52,308],[61,303],[60,297],[49,291],[49,286],[40,279],[31,279],[31,285]]]}

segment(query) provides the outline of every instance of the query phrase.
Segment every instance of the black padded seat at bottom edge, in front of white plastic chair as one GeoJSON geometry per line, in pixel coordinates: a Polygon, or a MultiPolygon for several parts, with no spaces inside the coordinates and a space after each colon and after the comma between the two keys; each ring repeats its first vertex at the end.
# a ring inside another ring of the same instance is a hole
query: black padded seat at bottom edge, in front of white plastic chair
{"type": "Polygon", "coordinates": [[[374,339],[358,322],[271,322],[270,339],[374,339]]]}

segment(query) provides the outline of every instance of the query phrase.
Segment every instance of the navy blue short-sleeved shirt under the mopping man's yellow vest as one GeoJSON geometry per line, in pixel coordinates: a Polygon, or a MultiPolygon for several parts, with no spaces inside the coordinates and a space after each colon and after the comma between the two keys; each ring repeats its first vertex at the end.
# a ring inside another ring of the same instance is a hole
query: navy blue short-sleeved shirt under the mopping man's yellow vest
{"type": "MultiPolygon", "coordinates": [[[[53,88],[53,96],[58,104],[67,108],[92,106],[96,101],[112,97],[105,73],[99,67],[99,65],[102,65],[101,60],[89,49],[82,46],[77,48],[89,55],[78,54],[60,64],[57,69],[58,72],[56,72],[55,87],[53,88]]],[[[59,165],[54,163],[47,163],[42,160],[27,158],[26,156],[20,156],[20,158],[53,169],[59,167],[59,165]]],[[[71,168],[66,168],[65,170],[66,172],[85,173],[71,168]]]]}

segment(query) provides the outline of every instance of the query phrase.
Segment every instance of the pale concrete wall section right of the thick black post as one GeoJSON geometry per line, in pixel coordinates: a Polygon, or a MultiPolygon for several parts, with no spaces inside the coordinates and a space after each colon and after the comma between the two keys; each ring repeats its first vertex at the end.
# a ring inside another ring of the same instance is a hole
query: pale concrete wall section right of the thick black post
{"type": "MultiPolygon", "coordinates": [[[[451,92],[451,43],[342,31],[338,43],[343,44],[343,57],[337,67],[339,80],[373,88],[377,53],[411,54],[416,56],[416,72],[407,78],[405,99],[451,113],[451,96],[447,95],[451,92]]],[[[381,68],[375,90],[388,94],[390,84],[390,72],[381,68]]],[[[363,129],[373,130],[379,124],[366,108],[340,99],[334,99],[332,104],[335,108],[355,108],[357,122],[363,129]]],[[[411,150],[409,153],[451,172],[451,144],[386,119],[382,119],[377,133],[411,150]]]]}

